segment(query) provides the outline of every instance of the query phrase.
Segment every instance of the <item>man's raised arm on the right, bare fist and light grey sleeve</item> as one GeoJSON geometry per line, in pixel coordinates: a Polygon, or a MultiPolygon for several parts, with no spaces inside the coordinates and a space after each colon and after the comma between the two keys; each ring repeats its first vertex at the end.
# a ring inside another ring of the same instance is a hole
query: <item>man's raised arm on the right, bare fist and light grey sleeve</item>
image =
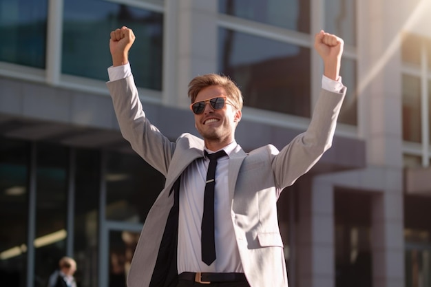
{"type": "MultiPolygon", "coordinates": [[[[324,76],[333,81],[339,81],[343,45],[342,39],[323,30],[315,35],[315,50],[324,61],[324,76]]],[[[272,166],[280,188],[293,184],[330,148],[345,94],[346,87],[339,92],[321,89],[306,132],[299,134],[274,157],[272,166]]]]}

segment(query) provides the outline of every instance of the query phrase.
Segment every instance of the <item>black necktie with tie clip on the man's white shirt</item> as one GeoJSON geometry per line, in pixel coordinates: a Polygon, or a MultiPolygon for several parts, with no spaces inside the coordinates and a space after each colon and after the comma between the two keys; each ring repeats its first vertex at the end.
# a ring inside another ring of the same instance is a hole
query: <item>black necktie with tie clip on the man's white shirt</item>
{"type": "Polygon", "coordinates": [[[215,242],[214,242],[214,187],[215,187],[215,167],[217,160],[227,154],[222,150],[216,153],[207,153],[209,166],[207,172],[207,183],[205,184],[204,193],[204,214],[202,215],[202,235],[200,243],[202,244],[202,261],[208,266],[215,260],[215,242]]]}

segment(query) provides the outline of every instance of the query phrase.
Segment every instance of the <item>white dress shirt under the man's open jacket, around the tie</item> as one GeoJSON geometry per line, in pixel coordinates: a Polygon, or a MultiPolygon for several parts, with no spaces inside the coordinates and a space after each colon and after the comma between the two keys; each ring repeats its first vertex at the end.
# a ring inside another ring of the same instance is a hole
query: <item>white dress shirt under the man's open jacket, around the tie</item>
{"type": "MultiPolygon", "coordinates": [[[[233,231],[228,188],[229,155],[237,146],[234,141],[223,148],[227,156],[218,159],[215,169],[214,233],[216,259],[210,266],[202,262],[200,252],[204,190],[209,158],[198,158],[181,175],[180,213],[178,217],[178,273],[184,271],[244,273],[233,231]]],[[[208,153],[213,153],[213,151],[206,150],[208,153]]]]}

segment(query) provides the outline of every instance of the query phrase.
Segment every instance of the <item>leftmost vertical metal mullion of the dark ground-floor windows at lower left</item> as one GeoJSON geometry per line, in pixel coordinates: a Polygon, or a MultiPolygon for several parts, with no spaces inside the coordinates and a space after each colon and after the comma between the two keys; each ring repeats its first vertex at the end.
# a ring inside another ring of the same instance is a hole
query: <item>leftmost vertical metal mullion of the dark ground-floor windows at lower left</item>
{"type": "Polygon", "coordinates": [[[36,143],[30,145],[28,176],[28,235],[27,235],[27,287],[34,286],[34,237],[36,235],[36,143]]]}

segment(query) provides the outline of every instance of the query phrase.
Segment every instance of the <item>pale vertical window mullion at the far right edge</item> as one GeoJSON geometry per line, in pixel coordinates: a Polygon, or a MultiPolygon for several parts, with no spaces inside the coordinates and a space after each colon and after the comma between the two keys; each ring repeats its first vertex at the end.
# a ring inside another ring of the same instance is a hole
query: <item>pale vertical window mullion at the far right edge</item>
{"type": "Polygon", "coordinates": [[[430,165],[430,127],[428,122],[428,55],[425,43],[421,44],[421,123],[422,123],[422,167],[430,165]]]}

